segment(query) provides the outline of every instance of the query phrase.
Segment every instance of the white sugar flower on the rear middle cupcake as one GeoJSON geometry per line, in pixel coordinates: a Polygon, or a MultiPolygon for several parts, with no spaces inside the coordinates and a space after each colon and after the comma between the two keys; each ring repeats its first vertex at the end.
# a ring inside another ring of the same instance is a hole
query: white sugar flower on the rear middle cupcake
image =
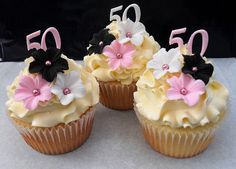
{"type": "Polygon", "coordinates": [[[141,22],[133,22],[130,19],[118,23],[120,43],[131,41],[135,46],[140,46],[144,40],[145,26],[141,22]]]}

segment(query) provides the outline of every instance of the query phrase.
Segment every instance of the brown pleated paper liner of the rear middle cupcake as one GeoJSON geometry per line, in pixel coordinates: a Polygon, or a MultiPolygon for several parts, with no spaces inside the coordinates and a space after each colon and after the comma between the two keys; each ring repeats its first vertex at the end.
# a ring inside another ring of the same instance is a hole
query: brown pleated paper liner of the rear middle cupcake
{"type": "Polygon", "coordinates": [[[137,90],[136,82],[130,85],[123,85],[118,81],[98,82],[100,88],[100,103],[116,110],[133,109],[133,93],[137,90]]]}

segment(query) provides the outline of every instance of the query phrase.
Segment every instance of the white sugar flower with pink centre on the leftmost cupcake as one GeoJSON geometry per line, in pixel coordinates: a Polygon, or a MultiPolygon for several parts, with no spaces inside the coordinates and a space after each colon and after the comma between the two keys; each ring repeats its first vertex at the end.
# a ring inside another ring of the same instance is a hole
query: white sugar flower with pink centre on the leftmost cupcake
{"type": "Polygon", "coordinates": [[[51,92],[59,98],[62,105],[68,105],[74,99],[80,99],[86,94],[82,80],[75,71],[71,71],[69,74],[58,73],[51,92]]]}

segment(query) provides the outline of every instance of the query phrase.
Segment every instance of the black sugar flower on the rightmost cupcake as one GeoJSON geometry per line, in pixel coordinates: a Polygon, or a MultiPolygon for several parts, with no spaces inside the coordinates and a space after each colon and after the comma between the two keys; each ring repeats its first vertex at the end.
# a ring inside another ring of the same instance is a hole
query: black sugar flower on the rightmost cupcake
{"type": "Polygon", "coordinates": [[[214,67],[202,58],[200,54],[184,55],[184,66],[182,72],[190,74],[194,79],[201,79],[205,84],[212,76],[214,67]]]}

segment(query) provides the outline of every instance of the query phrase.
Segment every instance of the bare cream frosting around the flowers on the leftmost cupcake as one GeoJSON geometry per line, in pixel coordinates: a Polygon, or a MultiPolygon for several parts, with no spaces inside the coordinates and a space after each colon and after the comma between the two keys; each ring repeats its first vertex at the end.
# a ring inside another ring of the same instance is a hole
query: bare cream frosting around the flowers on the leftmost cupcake
{"type": "Polygon", "coordinates": [[[29,74],[29,63],[33,61],[33,58],[30,57],[25,61],[27,67],[20,72],[20,75],[17,76],[13,83],[7,88],[9,100],[6,105],[11,117],[28,122],[32,126],[52,127],[60,123],[67,124],[80,119],[81,115],[86,112],[89,107],[98,103],[99,87],[96,79],[81,65],[77,65],[72,59],[68,59],[65,55],[62,55],[62,58],[66,59],[69,64],[69,70],[66,70],[65,74],[71,71],[78,72],[78,78],[80,77],[84,84],[86,95],[83,98],[73,100],[66,106],[63,106],[54,95],[50,101],[45,103],[41,102],[37,109],[32,111],[26,109],[23,102],[15,101],[14,93],[19,83],[20,75],[29,74]]]}

